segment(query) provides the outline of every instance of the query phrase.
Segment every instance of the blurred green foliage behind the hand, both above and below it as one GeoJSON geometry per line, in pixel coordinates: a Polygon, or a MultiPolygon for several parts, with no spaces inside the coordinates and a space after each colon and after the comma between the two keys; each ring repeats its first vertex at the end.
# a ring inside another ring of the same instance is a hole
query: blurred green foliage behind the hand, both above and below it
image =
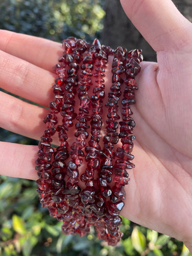
{"type": "MultiPolygon", "coordinates": [[[[109,40],[108,33],[110,34],[111,30],[107,20],[109,15],[104,19],[103,8],[114,10],[117,2],[118,0],[111,1],[109,7],[107,0],[0,0],[0,29],[56,41],[68,36],[76,36],[88,41],[97,37],[101,42],[105,42],[109,40]],[[105,29],[101,34],[103,22],[105,29]]],[[[122,23],[121,26],[124,26],[123,30],[126,29],[125,24],[122,23]]],[[[135,29],[134,31],[138,33],[135,29]]],[[[111,43],[115,44],[112,39],[111,43]]],[[[152,55],[148,52],[149,59],[152,55]]],[[[35,140],[10,133],[2,128],[0,128],[0,140],[37,144],[35,140]]],[[[64,236],[60,226],[60,222],[55,221],[46,209],[41,208],[34,181],[0,177],[0,254],[2,256],[191,255],[182,242],[126,219],[123,219],[121,226],[124,236],[117,247],[107,246],[99,241],[94,229],[87,237],[79,238],[64,236]]]]}

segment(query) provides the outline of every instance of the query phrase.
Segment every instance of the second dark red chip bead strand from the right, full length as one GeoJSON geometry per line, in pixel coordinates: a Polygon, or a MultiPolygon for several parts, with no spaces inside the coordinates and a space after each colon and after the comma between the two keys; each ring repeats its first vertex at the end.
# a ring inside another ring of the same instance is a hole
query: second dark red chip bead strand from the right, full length
{"type": "MultiPolygon", "coordinates": [[[[123,79],[121,78],[121,74],[124,73],[124,65],[126,62],[125,59],[126,49],[118,47],[114,51],[114,59],[112,63],[112,86],[110,88],[110,92],[108,94],[108,102],[105,106],[108,108],[108,119],[106,120],[106,136],[103,137],[104,147],[103,152],[107,156],[103,159],[101,165],[101,181],[102,185],[105,185],[103,191],[105,192],[104,197],[108,198],[106,201],[106,210],[104,215],[104,221],[106,228],[108,230],[108,234],[104,232],[101,239],[108,241],[108,244],[114,245],[117,241],[122,237],[122,233],[119,231],[119,224],[121,224],[121,218],[118,216],[119,205],[113,205],[110,198],[112,195],[112,188],[108,185],[108,183],[112,182],[112,176],[114,175],[114,167],[113,160],[115,159],[115,145],[118,143],[118,120],[120,116],[118,115],[118,101],[121,96],[121,86],[123,84],[123,79]]],[[[101,188],[102,189],[102,188],[101,188]]]]}

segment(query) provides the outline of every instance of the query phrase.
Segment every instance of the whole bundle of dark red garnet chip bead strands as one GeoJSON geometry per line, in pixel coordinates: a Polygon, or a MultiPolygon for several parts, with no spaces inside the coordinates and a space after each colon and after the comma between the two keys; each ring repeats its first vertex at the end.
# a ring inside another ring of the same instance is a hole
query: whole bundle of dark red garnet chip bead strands
{"type": "Polygon", "coordinates": [[[141,50],[113,50],[97,39],[92,45],[74,37],[62,43],[63,55],[54,66],[54,100],[38,144],[37,192],[42,207],[63,222],[64,234],[85,236],[94,225],[99,239],[116,245],[122,237],[119,214],[124,186],[130,180],[127,169],[134,167],[131,105],[135,103],[141,50]],[[112,81],[105,95],[110,55],[112,81]],[[58,137],[58,147],[51,144],[53,135],[58,137]]]}

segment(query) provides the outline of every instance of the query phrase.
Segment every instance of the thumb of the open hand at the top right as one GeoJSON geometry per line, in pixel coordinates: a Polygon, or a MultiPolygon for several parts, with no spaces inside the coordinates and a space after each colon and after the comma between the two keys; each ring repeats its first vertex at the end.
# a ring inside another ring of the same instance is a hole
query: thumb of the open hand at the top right
{"type": "Polygon", "coordinates": [[[191,41],[191,23],[171,0],[120,2],[126,15],[156,52],[180,48],[191,41]]]}

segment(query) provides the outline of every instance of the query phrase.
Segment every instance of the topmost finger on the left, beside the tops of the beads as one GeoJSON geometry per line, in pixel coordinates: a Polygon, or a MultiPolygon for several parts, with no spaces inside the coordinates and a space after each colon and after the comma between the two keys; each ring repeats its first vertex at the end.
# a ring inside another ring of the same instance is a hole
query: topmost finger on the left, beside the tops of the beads
{"type": "Polygon", "coordinates": [[[49,39],[0,30],[0,50],[52,72],[62,45],[49,39]]]}

